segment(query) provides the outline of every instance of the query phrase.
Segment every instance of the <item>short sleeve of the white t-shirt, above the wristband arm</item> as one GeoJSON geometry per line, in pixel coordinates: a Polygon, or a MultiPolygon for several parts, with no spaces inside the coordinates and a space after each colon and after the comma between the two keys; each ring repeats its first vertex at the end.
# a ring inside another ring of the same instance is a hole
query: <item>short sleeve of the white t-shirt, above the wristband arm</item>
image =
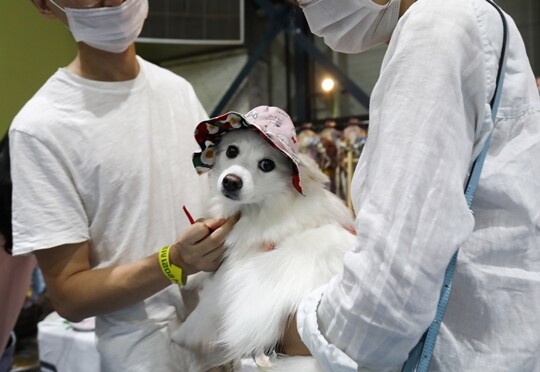
{"type": "Polygon", "coordinates": [[[84,206],[60,152],[23,131],[9,136],[14,253],[88,240],[84,206]]]}

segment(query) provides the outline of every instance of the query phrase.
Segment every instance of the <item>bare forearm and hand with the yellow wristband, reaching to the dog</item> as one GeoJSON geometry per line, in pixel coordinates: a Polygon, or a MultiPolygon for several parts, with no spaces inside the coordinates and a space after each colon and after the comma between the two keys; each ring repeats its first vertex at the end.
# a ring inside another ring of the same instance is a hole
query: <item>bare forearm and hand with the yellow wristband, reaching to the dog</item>
{"type": "MultiPolygon", "coordinates": [[[[186,275],[216,270],[234,222],[234,218],[196,222],[171,248],[171,263],[186,275]]],[[[130,306],[171,284],[161,271],[157,252],[99,269],[90,267],[88,242],[37,250],[35,255],[55,310],[71,321],[130,306]]]]}

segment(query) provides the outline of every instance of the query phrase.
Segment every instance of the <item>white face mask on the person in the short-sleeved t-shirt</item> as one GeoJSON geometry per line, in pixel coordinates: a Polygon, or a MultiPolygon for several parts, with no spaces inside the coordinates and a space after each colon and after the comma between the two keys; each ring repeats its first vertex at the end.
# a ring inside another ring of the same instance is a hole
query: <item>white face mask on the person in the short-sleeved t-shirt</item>
{"type": "Polygon", "coordinates": [[[116,7],[61,8],[77,42],[111,53],[122,53],[139,36],[148,15],[148,0],[126,0],[116,7]]]}

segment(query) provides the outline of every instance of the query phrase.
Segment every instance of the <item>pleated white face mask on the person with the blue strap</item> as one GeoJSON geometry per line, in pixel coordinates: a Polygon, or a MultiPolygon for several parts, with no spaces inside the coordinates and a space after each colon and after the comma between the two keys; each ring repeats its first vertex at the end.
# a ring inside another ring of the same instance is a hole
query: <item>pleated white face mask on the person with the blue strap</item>
{"type": "Polygon", "coordinates": [[[386,5],[371,0],[342,1],[345,4],[341,9],[347,9],[346,14],[330,10],[317,17],[309,17],[310,3],[305,3],[311,32],[323,37],[330,48],[343,53],[358,53],[390,40],[399,19],[400,0],[389,0],[386,5]]]}

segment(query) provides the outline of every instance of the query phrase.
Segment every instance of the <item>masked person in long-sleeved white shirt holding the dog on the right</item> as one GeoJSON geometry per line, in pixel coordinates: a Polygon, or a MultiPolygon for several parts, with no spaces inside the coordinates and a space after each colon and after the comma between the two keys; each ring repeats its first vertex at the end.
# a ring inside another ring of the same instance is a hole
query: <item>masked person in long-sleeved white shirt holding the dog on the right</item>
{"type": "Polygon", "coordinates": [[[399,368],[459,249],[430,370],[539,371],[540,97],[519,31],[506,15],[493,122],[497,10],[486,0],[374,1],[300,0],[333,49],[389,45],[352,181],[357,244],[343,275],[303,300],[285,350],[328,371],[399,368]],[[491,132],[470,211],[464,185],[491,132]]]}

